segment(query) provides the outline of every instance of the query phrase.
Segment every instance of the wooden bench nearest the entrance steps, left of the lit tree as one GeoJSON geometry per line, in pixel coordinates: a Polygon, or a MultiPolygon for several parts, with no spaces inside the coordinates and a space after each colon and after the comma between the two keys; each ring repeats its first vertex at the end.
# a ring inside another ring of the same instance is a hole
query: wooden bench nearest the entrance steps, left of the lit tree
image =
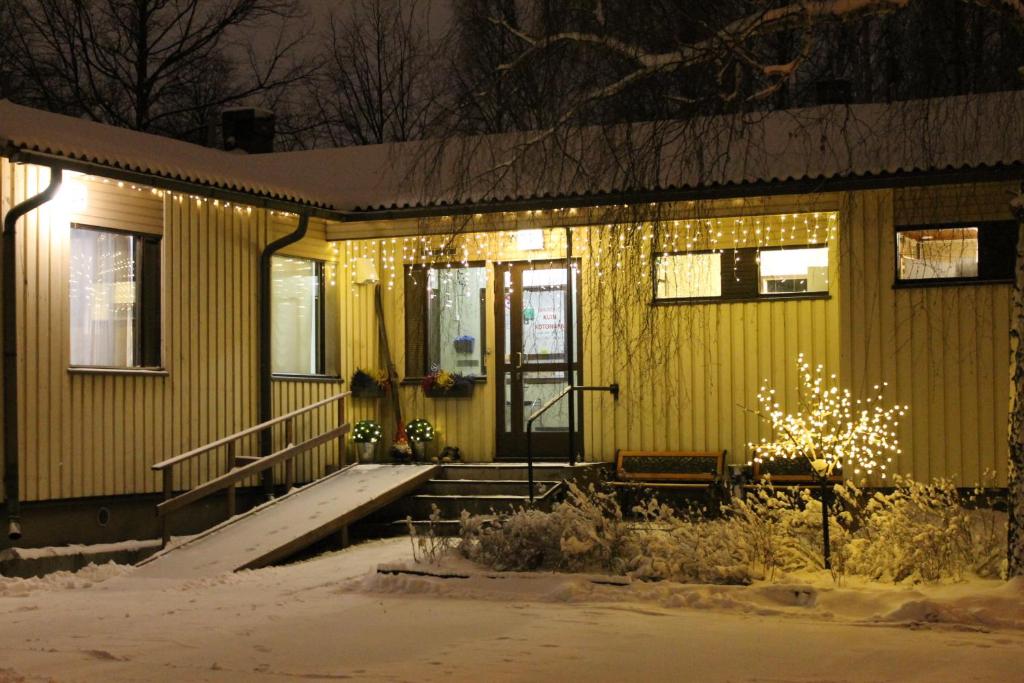
{"type": "Polygon", "coordinates": [[[620,489],[702,490],[723,484],[725,451],[616,451],[615,480],[620,489]]]}

